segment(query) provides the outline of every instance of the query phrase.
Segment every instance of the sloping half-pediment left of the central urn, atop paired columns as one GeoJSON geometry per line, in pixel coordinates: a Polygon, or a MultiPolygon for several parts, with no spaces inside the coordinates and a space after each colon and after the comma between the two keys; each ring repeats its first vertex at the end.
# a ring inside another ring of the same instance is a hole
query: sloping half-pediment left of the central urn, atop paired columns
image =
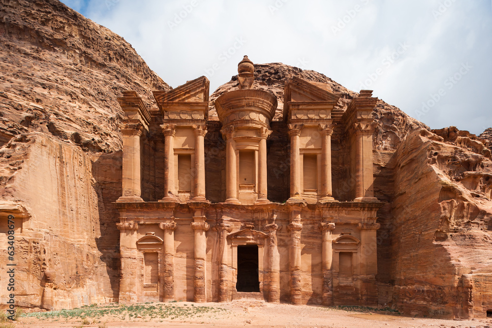
{"type": "Polygon", "coordinates": [[[201,76],[169,91],[153,91],[157,105],[163,102],[208,102],[210,81],[201,76]]]}

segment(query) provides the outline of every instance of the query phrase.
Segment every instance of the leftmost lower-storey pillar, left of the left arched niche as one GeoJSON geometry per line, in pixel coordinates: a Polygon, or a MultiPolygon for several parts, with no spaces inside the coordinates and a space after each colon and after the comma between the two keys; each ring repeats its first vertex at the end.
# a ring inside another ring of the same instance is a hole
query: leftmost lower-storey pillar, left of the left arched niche
{"type": "Polygon", "coordinates": [[[120,230],[120,303],[135,303],[137,301],[137,234],[138,223],[117,223],[120,230]]]}

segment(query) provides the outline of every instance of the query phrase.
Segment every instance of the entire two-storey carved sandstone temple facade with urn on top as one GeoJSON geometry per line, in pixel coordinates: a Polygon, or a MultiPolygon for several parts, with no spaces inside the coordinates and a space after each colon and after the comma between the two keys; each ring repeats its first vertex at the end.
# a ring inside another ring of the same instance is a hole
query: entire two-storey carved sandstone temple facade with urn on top
{"type": "MultiPolygon", "coordinates": [[[[238,89],[215,100],[205,77],[134,91],[125,115],[120,302],[229,301],[377,304],[372,109],[361,90],[346,108],[320,84],[285,81],[277,97],[238,89]]],[[[265,88],[263,88],[265,89],[265,88]]]]}

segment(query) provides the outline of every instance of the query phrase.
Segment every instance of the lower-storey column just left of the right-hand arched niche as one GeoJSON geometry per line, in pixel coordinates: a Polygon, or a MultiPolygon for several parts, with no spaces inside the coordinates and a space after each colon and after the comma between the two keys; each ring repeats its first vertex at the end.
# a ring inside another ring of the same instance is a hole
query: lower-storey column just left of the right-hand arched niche
{"type": "MultiPolygon", "coordinates": [[[[333,218],[328,218],[333,219],[333,218]]],[[[320,229],[323,232],[323,243],[321,248],[321,264],[323,270],[323,291],[322,304],[325,306],[333,305],[333,271],[332,271],[332,231],[335,223],[322,222],[320,229]]]]}

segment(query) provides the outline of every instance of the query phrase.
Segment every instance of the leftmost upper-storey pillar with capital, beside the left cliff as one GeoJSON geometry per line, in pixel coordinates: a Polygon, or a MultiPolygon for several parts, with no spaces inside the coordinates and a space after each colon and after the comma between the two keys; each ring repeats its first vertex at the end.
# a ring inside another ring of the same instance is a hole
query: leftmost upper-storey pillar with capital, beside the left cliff
{"type": "Polygon", "coordinates": [[[122,129],[123,195],[117,202],[143,202],[140,197],[140,136],[142,124],[122,129]]]}

